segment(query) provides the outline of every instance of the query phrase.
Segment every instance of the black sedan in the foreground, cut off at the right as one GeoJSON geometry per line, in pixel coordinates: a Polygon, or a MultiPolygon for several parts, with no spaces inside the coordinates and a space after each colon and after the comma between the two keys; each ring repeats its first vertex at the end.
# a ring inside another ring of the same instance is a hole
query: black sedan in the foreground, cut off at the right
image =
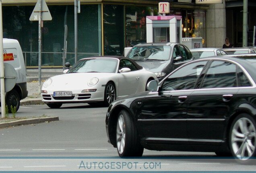
{"type": "Polygon", "coordinates": [[[248,163],[256,156],[256,58],[186,63],[151,91],[114,101],[106,131],[120,157],[143,149],[215,152],[248,163]]]}

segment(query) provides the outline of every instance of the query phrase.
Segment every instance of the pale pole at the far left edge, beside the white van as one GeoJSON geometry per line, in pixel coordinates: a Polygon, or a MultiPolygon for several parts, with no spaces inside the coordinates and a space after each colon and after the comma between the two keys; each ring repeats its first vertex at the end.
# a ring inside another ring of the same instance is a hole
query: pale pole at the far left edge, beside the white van
{"type": "Polygon", "coordinates": [[[1,115],[5,118],[5,91],[4,91],[4,53],[3,53],[3,22],[2,0],[0,0],[0,87],[1,87],[1,115]]]}

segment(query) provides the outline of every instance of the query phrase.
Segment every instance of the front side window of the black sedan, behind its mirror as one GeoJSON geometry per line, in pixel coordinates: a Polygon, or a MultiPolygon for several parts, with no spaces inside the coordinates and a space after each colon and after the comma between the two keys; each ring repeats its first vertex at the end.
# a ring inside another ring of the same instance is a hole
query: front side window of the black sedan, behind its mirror
{"type": "Polygon", "coordinates": [[[177,70],[165,79],[161,91],[193,89],[206,62],[194,62],[177,70]]]}

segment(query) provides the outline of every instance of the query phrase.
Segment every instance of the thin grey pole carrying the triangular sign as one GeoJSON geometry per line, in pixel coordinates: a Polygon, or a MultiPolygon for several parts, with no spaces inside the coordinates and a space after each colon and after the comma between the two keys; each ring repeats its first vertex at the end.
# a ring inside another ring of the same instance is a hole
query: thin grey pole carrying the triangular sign
{"type": "Polygon", "coordinates": [[[41,54],[42,54],[42,0],[39,0],[39,20],[38,20],[38,92],[41,94],[41,54]]]}

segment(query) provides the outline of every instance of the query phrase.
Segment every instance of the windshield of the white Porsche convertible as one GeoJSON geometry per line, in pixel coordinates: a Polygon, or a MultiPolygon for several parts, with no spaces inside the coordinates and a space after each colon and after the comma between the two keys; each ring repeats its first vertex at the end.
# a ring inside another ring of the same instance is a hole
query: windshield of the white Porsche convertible
{"type": "Polygon", "coordinates": [[[114,58],[88,58],[76,62],[67,73],[116,72],[118,60],[114,58]]]}

